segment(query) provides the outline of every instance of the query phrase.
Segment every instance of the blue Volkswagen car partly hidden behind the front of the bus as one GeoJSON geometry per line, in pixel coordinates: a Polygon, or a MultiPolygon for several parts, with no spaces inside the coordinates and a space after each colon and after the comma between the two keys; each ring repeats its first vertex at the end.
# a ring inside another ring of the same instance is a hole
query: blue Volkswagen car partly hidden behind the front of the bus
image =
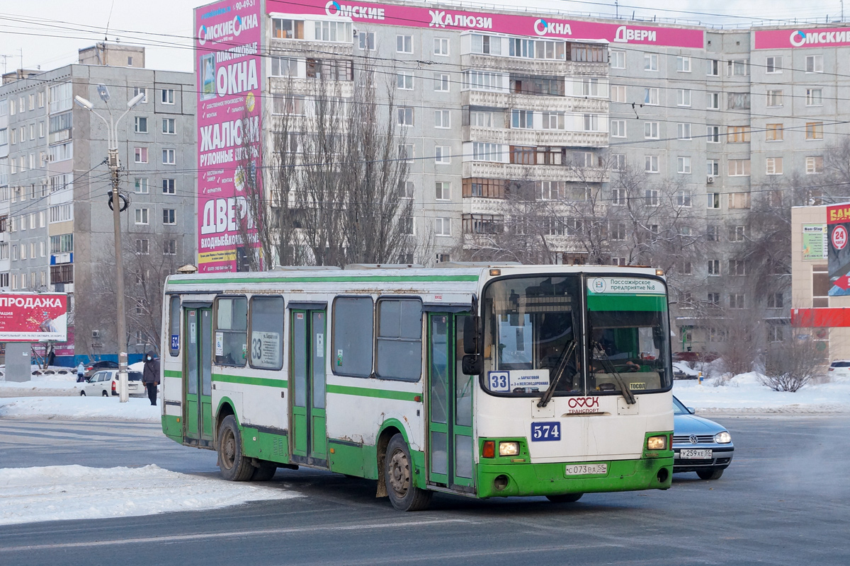
{"type": "Polygon", "coordinates": [[[719,479],[734,451],[727,429],[697,417],[673,397],[673,474],[696,472],[701,479],[719,479]]]}

